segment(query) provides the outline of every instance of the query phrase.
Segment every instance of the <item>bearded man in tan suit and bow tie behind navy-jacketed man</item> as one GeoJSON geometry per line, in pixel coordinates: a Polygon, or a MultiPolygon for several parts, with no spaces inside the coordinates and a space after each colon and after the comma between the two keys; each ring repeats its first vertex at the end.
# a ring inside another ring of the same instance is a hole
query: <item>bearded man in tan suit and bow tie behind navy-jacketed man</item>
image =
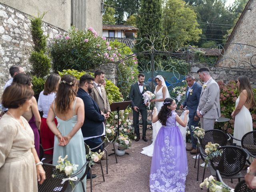
{"type": "Polygon", "coordinates": [[[103,71],[100,71],[100,70],[95,71],[94,82],[93,82],[94,88],[92,88],[92,92],[90,93],[90,96],[98,104],[102,113],[107,114],[106,118],[108,118],[111,110],[110,110],[105,87],[102,85],[104,78],[105,78],[105,73],[103,71]]]}

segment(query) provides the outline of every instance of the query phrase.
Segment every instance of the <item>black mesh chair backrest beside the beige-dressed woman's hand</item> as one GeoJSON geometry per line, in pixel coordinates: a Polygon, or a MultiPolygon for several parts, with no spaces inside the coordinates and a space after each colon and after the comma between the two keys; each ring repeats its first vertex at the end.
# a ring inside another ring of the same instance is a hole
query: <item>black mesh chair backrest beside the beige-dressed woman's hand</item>
{"type": "Polygon", "coordinates": [[[68,186],[68,182],[61,184],[63,178],[67,178],[65,172],[56,170],[56,166],[52,164],[43,164],[46,173],[46,180],[42,184],[38,184],[38,192],[63,192],[68,186]]]}

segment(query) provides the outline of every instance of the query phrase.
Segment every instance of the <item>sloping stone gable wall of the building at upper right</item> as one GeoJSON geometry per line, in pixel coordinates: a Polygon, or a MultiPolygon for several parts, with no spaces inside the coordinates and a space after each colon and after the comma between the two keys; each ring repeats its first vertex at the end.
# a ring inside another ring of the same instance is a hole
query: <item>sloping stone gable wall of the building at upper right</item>
{"type": "Polygon", "coordinates": [[[218,59],[218,66],[252,68],[255,64],[256,48],[256,1],[250,0],[232,32],[225,51],[218,59]],[[248,46],[250,45],[250,46],[248,46]]]}

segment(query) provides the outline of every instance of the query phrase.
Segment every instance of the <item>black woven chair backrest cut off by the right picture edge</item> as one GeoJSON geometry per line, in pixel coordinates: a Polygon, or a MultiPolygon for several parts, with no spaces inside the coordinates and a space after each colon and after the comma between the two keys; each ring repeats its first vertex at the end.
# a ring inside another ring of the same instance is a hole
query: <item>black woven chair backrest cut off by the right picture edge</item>
{"type": "Polygon", "coordinates": [[[256,154],[256,131],[250,131],[242,137],[242,148],[247,149],[250,153],[256,154]]]}

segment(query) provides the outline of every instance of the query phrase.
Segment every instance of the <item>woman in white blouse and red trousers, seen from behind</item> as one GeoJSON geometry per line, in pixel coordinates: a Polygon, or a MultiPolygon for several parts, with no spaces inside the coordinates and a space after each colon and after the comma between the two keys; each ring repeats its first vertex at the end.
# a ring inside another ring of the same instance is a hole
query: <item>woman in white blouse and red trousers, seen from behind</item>
{"type": "MultiPolygon", "coordinates": [[[[43,117],[42,117],[42,123],[40,125],[40,136],[41,136],[41,142],[44,149],[53,148],[54,146],[54,134],[49,129],[46,118],[48,115],[49,108],[55,99],[56,92],[58,90],[58,86],[60,83],[60,76],[58,74],[51,74],[46,79],[46,82],[44,84],[44,90],[40,92],[39,98],[38,98],[38,110],[42,111],[43,117]]],[[[55,118],[55,124],[57,125],[57,120],[55,118]]],[[[44,151],[45,154],[53,154],[53,149],[44,151]]]]}

